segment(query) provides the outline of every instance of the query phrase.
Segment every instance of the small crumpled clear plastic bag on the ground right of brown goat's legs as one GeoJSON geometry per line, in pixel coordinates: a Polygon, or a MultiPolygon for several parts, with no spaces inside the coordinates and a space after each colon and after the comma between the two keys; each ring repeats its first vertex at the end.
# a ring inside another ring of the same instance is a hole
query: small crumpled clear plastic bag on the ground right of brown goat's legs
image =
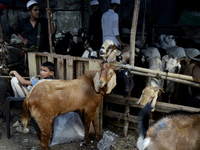
{"type": "Polygon", "coordinates": [[[118,141],[119,136],[111,131],[106,131],[103,133],[103,138],[97,143],[97,148],[99,150],[110,150],[111,145],[115,145],[118,141]]]}

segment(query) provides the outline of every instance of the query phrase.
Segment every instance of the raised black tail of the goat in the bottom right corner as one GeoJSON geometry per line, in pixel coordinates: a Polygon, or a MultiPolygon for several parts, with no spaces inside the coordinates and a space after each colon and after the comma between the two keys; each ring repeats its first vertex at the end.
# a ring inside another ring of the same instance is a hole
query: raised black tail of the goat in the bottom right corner
{"type": "Polygon", "coordinates": [[[138,129],[139,134],[143,138],[146,137],[147,130],[149,128],[149,118],[152,110],[151,103],[147,103],[145,107],[143,107],[140,111],[138,129]]]}

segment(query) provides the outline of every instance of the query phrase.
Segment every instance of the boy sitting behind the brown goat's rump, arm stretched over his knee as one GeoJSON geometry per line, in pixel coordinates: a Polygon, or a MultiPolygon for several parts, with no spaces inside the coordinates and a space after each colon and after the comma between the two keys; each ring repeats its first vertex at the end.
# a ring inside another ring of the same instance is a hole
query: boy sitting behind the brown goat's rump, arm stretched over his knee
{"type": "MultiPolygon", "coordinates": [[[[42,63],[40,67],[40,79],[53,79],[54,71],[55,67],[53,63],[48,61],[42,63]]],[[[31,80],[26,80],[14,70],[11,71],[9,75],[15,76],[11,79],[11,86],[15,97],[26,97],[31,90],[27,86],[34,86],[39,81],[37,77],[31,78],[31,80]]]]}

